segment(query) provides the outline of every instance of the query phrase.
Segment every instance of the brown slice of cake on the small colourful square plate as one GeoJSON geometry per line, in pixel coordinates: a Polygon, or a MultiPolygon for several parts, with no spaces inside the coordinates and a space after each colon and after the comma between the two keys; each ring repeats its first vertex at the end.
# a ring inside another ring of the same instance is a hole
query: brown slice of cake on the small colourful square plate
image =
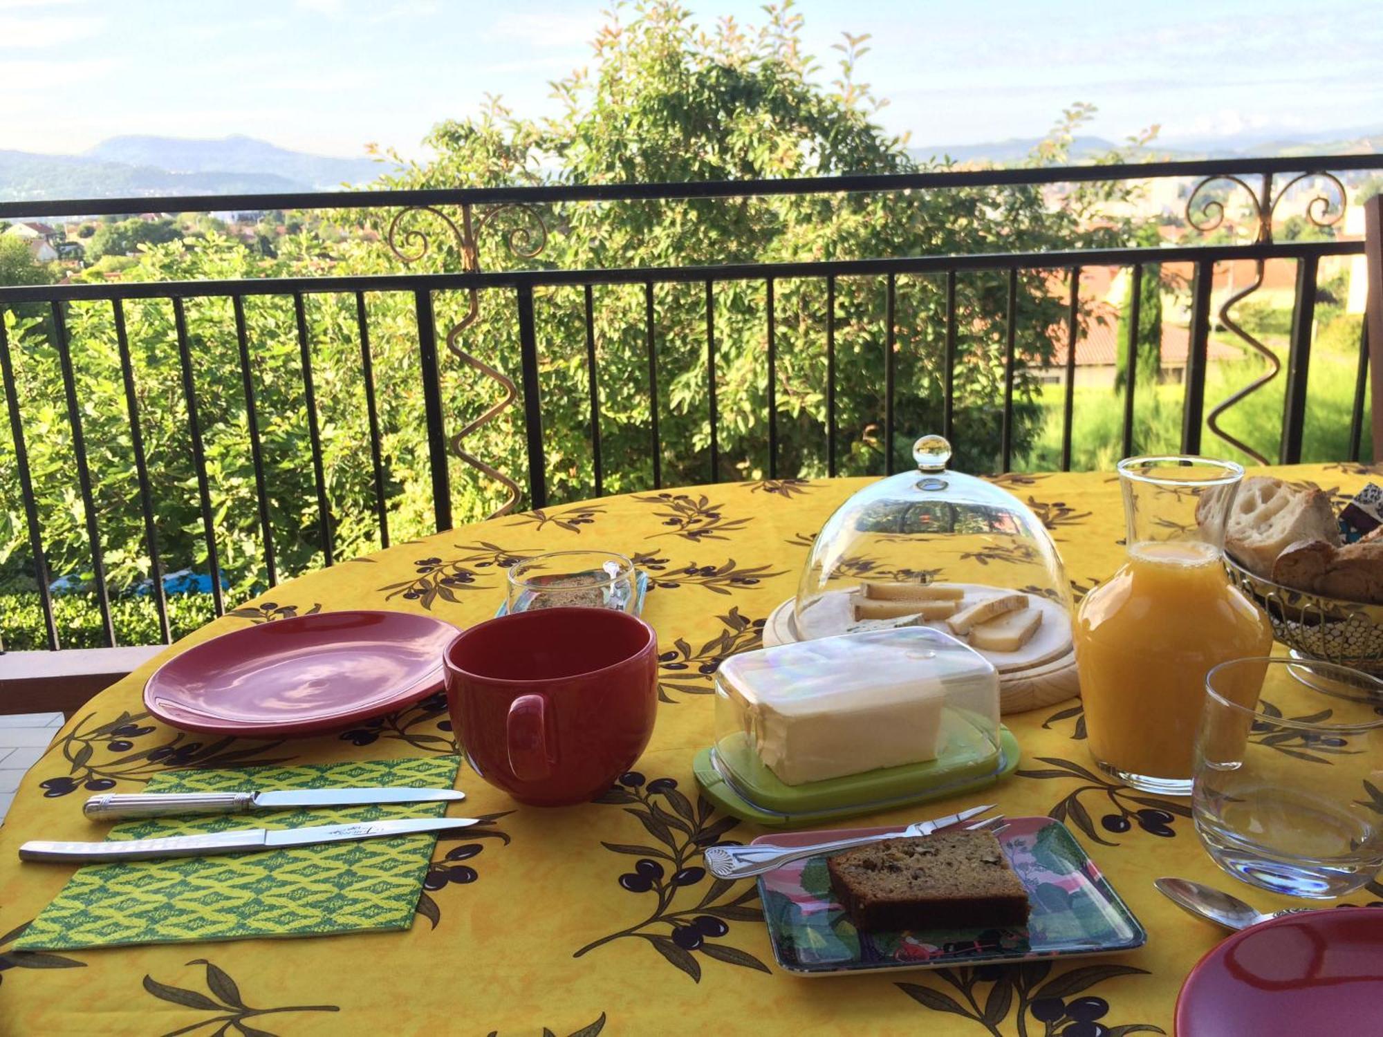
{"type": "Polygon", "coordinates": [[[826,868],[862,931],[1028,924],[1028,889],[990,832],[884,839],[837,853],[826,868]]]}

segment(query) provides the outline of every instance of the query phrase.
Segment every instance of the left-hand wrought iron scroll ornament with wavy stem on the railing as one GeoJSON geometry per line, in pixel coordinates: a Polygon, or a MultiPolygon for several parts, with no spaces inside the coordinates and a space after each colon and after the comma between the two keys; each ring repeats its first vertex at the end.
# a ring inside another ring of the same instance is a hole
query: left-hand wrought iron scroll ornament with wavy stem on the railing
{"type": "MultiPolygon", "coordinates": [[[[532,206],[513,203],[492,206],[479,213],[474,212],[472,206],[463,205],[461,207],[459,224],[447,213],[433,206],[409,206],[408,209],[401,209],[394,214],[394,218],[389,223],[389,232],[384,239],[389,243],[390,250],[404,263],[420,261],[431,250],[431,239],[429,238],[427,231],[405,224],[409,217],[420,214],[430,216],[434,220],[440,220],[455,241],[456,249],[461,252],[462,271],[467,274],[479,274],[480,246],[477,238],[487,227],[494,224],[495,217],[502,213],[517,214],[526,221],[503,231],[503,241],[509,252],[520,259],[535,259],[539,253],[542,253],[544,247],[548,245],[548,227],[544,223],[541,213],[538,213],[538,210],[532,206]]],[[[451,452],[455,454],[465,465],[469,465],[481,474],[488,476],[505,488],[508,499],[490,516],[491,518],[495,518],[496,516],[508,514],[513,510],[514,505],[519,502],[520,487],[503,471],[481,460],[462,444],[467,436],[488,424],[509,409],[514,400],[517,400],[519,391],[513,379],[508,377],[502,371],[487,364],[480,357],[466,351],[461,346],[462,333],[480,317],[480,290],[474,288],[467,289],[467,296],[466,312],[459,321],[456,321],[456,324],[447,329],[447,350],[462,364],[473,371],[479,371],[481,375],[498,384],[502,390],[502,395],[480,416],[458,429],[456,433],[448,440],[448,445],[451,447],[451,452]]]]}

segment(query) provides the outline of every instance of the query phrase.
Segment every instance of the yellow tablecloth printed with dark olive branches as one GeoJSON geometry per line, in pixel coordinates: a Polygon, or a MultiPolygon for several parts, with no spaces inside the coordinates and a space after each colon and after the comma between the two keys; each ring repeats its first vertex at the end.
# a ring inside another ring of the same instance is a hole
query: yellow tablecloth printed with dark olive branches
{"type": "MultiPolygon", "coordinates": [[[[1336,496],[1355,492],[1371,474],[1379,478],[1369,469],[1340,465],[1285,471],[1336,496]]],[[[678,888],[661,908],[651,895],[621,886],[620,875],[636,860],[621,846],[657,848],[680,867],[696,868],[697,837],[747,842],[759,834],[697,809],[692,756],[712,736],[711,673],[719,660],[758,644],[769,611],[795,592],[812,535],[866,481],[714,485],[508,516],[300,577],[184,639],[163,657],[248,624],[318,610],[397,608],[466,625],[494,614],[512,559],[561,548],[610,549],[638,556],[653,577],[644,615],[660,636],[664,701],[653,742],[636,765],[642,784],[629,777],[633,803],[520,807],[463,767],[458,778],[469,796],[463,813],[485,816],[487,823],[473,835],[438,842],[429,885],[447,881],[425,895],[405,933],[62,955],[12,951],[24,925],[71,875],[66,867],[21,864],[15,849],[32,838],[100,838],[102,830],[82,816],[89,788],[138,791],[149,774],[189,763],[452,751],[449,723],[436,701],[339,737],[274,744],[183,734],[144,713],[140,690],[151,664],[68,722],[25,778],[0,828],[0,1034],[1082,1037],[1101,1031],[1068,1029],[1075,1018],[1064,1013],[1044,1022],[1054,1015],[1052,997],[1066,1004],[1094,998],[1082,1015],[1095,1016],[1109,1033],[1170,1033],[1181,980],[1220,933],[1163,900],[1152,879],[1184,875],[1235,888],[1264,908],[1288,904],[1236,886],[1217,871],[1182,803],[1169,810],[1170,824],[1141,827],[1137,810],[1144,807],[1127,791],[1087,773],[1076,701],[1007,718],[1023,759],[1019,774],[993,796],[1011,816],[1065,807],[1068,825],[1145,924],[1149,940],[1140,951],[1061,962],[1039,982],[1018,968],[806,980],[770,965],[752,882],[726,886],[700,877],[678,888]],[[676,824],[650,825],[653,814],[669,814],[676,824]],[[672,845],[661,842],[654,828],[671,834],[672,845]],[[675,919],[707,906],[729,908],[722,913],[729,931],[692,951],[694,969],[689,969],[650,937],[667,937],[675,919]],[[1047,1000],[1033,1012],[1040,997],[1047,1000]]],[[[1116,541],[1123,517],[1109,474],[1001,481],[1047,523],[1077,595],[1120,563],[1116,541]]],[[[927,805],[922,816],[960,805],[927,805]]],[[[916,816],[917,807],[860,823],[916,816]]],[[[1375,885],[1353,901],[1379,895],[1383,889],[1375,885]]]]}

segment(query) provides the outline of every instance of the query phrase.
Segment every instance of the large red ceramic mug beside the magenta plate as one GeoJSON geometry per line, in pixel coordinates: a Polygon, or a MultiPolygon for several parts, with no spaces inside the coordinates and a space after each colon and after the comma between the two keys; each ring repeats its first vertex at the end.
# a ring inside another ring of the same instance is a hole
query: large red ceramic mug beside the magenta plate
{"type": "Polygon", "coordinates": [[[520,803],[604,792],[643,752],[658,711],[658,637],[611,608],[537,608],[447,647],[447,707],[470,766],[520,803]]]}

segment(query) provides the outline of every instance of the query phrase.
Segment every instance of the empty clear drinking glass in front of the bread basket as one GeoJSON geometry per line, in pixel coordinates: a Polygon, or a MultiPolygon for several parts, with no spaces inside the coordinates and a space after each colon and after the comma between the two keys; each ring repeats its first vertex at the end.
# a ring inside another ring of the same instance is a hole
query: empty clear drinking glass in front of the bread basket
{"type": "Polygon", "coordinates": [[[1220,664],[1192,809],[1206,850],[1245,882],[1303,897],[1359,889],[1383,868],[1383,683],[1329,662],[1220,664]],[[1242,705],[1253,686],[1257,704],[1242,705]]]}

